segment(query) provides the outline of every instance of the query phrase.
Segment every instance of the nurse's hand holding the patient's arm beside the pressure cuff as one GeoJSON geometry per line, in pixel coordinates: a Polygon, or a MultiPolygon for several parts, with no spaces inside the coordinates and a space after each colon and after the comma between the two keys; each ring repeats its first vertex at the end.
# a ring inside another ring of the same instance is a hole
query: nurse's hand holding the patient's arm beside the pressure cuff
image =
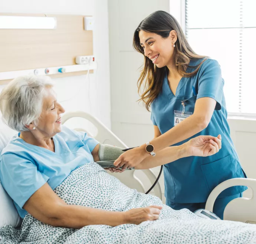
{"type": "Polygon", "coordinates": [[[122,153],[118,159],[115,160],[114,165],[116,168],[122,167],[122,170],[129,169],[137,166],[143,159],[148,156],[148,153],[141,147],[130,149],[122,153]]]}

